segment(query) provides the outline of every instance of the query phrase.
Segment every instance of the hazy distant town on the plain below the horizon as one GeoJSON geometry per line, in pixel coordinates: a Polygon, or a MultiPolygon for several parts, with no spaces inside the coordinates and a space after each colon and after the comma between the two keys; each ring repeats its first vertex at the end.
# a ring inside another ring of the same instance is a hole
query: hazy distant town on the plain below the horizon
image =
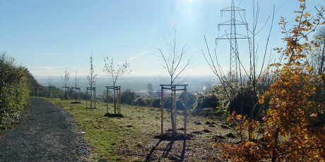
{"type": "MultiPolygon", "coordinates": [[[[36,77],[37,82],[40,85],[48,86],[47,80],[49,77],[36,77]]],[[[64,83],[61,80],[61,77],[53,76],[51,77],[51,85],[55,87],[62,87],[64,83]]],[[[105,86],[112,85],[111,77],[107,76],[99,76],[96,80],[96,94],[100,95],[102,92],[106,90],[105,86]]],[[[179,78],[175,84],[186,84],[189,85],[187,88],[191,93],[204,93],[206,91],[211,90],[211,88],[215,85],[218,85],[220,82],[218,77],[215,75],[211,76],[189,76],[179,78]]],[[[169,81],[170,82],[170,81],[169,81]]],[[[160,85],[168,84],[168,77],[166,76],[125,76],[120,80],[117,80],[117,85],[121,86],[121,91],[125,91],[126,89],[131,89],[131,91],[136,92],[137,94],[143,96],[147,94],[148,84],[153,85],[154,94],[160,93],[160,85]]],[[[70,76],[68,86],[74,85],[74,76],[70,76]]],[[[86,87],[89,87],[88,80],[85,76],[81,76],[78,87],[81,87],[81,92],[86,91],[86,87]]],[[[158,96],[158,95],[157,95],[158,96]]]]}

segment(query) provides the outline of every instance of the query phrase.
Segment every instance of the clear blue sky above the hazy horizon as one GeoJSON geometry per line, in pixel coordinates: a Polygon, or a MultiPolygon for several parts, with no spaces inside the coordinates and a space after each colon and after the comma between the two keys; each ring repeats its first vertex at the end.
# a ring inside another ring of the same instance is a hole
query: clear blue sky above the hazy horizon
{"type": "MultiPolygon", "coordinates": [[[[325,5],[325,0],[306,0],[307,11],[314,14],[314,6],[325,5]]],[[[104,67],[103,56],[117,63],[128,60],[131,75],[167,75],[162,69],[158,48],[167,52],[166,42],[172,42],[177,30],[177,44],[190,47],[197,58],[188,75],[212,75],[201,50],[206,51],[204,36],[211,50],[215,38],[229,32],[229,27],[218,24],[230,20],[230,13],[220,17],[220,10],[228,8],[230,0],[96,0],[96,1],[0,1],[0,51],[16,58],[16,63],[29,68],[35,76],[59,76],[68,68],[71,75],[88,75],[90,55],[93,54],[98,75],[104,67]]],[[[298,10],[297,0],[260,0],[258,28],[276,13],[269,50],[284,46],[280,40],[280,16],[291,23],[298,10]]],[[[252,24],[251,0],[235,0],[235,6],[246,9],[252,24]]],[[[236,15],[239,17],[239,15],[236,15]]],[[[240,20],[240,18],[238,18],[240,20]]],[[[237,19],[237,20],[238,20],[237,19]]],[[[270,22],[256,37],[259,54],[264,51],[270,22]]],[[[244,35],[244,27],[237,27],[244,35]]],[[[246,42],[238,42],[240,58],[248,61],[246,42]]],[[[221,66],[229,68],[229,43],[217,46],[221,66]]],[[[278,57],[273,52],[275,58],[278,57]]],[[[261,56],[260,56],[261,59],[261,56]]]]}

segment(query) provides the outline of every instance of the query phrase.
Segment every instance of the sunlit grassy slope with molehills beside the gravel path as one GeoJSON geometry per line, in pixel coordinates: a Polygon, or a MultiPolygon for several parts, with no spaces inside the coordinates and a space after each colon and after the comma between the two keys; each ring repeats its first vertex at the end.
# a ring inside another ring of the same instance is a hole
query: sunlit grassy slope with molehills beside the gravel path
{"type": "MultiPolygon", "coordinates": [[[[89,161],[107,159],[108,161],[145,161],[150,156],[151,160],[168,161],[180,157],[183,148],[183,141],[160,141],[154,138],[160,135],[160,111],[158,108],[141,106],[121,106],[121,113],[124,118],[105,117],[106,104],[97,103],[97,108],[85,108],[85,101],[82,104],[71,104],[71,101],[61,99],[50,99],[54,104],[65,108],[85,131],[85,140],[90,145],[91,155],[89,161]],[[169,147],[172,145],[172,147],[169,147]],[[167,149],[168,148],[168,149],[167,149]],[[167,156],[168,155],[168,156],[167,156]]],[[[114,108],[110,104],[110,113],[114,108]]],[[[170,113],[165,112],[165,130],[170,125],[170,113]]],[[[183,127],[184,117],[178,116],[177,128],[183,127]]],[[[225,136],[230,129],[220,128],[220,123],[206,125],[208,119],[201,117],[188,117],[188,131],[192,135],[191,140],[186,142],[186,161],[215,160],[216,154],[220,151],[211,148],[211,139],[215,135],[225,136]],[[194,123],[201,122],[202,125],[194,123]],[[207,132],[204,130],[210,130],[207,132]]],[[[211,120],[210,120],[211,122],[211,120]]],[[[182,131],[179,131],[182,133],[182,131]]],[[[226,138],[226,140],[235,139],[226,138]]]]}

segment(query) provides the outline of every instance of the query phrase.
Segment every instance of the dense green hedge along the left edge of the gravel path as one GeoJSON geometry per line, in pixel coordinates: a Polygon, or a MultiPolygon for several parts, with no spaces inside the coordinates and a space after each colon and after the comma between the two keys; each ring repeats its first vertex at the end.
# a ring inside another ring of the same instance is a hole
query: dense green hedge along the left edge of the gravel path
{"type": "Polygon", "coordinates": [[[0,54],[0,130],[12,127],[29,105],[29,83],[23,66],[6,52],[0,54]]]}

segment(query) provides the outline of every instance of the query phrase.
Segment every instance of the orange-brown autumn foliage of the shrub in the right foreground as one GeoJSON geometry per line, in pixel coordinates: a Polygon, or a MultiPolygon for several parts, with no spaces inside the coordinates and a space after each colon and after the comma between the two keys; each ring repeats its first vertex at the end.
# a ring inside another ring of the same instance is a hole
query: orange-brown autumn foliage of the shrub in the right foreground
{"type": "Polygon", "coordinates": [[[321,116],[325,100],[319,93],[325,91],[325,74],[314,73],[306,59],[306,51],[316,45],[307,35],[324,24],[324,19],[321,14],[312,18],[305,12],[305,0],[299,1],[295,25],[288,29],[285,18],[280,20],[286,47],[275,49],[283,61],[268,66],[266,75],[275,77],[266,92],[258,95],[259,104],[269,100],[268,109],[261,113],[263,120],[232,113],[228,122],[234,123],[241,141],[215,144],[233,161],[324,161],[325,127],[321,116]]]}

